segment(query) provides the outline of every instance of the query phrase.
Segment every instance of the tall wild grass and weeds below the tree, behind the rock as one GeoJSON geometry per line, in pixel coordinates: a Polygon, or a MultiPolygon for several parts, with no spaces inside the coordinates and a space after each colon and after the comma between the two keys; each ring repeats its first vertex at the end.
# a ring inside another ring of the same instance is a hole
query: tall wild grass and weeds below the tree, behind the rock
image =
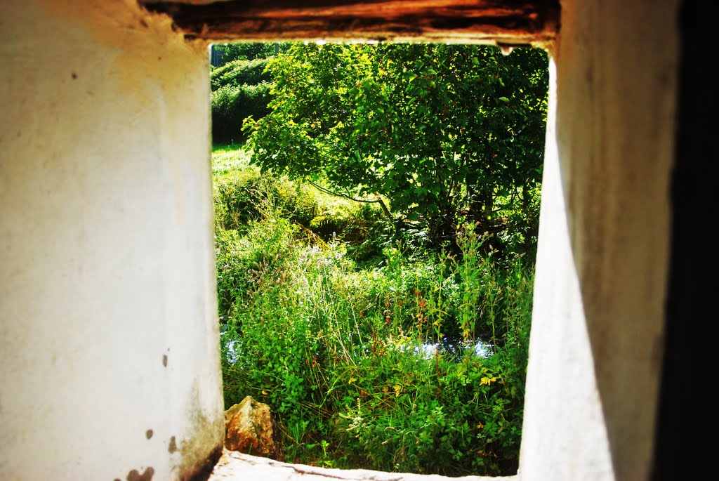
{"type": "Polygon", "coordinates": [[[269,404],[290,462],[516,472],[531,270],[481,255],[472,226],[458,255],[385,247],[362,268],[293,218],[283,180],[242,191],[248,174],[235,174],[216,178],[226,407],[269,404]],[[255,214],[235,212],[237,196],[255,214]]]}

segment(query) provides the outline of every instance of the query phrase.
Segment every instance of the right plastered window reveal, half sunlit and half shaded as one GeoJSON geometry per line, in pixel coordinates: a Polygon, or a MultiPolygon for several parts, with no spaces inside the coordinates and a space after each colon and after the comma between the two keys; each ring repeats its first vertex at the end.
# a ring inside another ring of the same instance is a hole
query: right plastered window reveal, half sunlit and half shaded
{"type": "Polygon", "coordinates": [[[678,1],[562,1],[520,475],[646,480],[669,252],[678,1]]]}

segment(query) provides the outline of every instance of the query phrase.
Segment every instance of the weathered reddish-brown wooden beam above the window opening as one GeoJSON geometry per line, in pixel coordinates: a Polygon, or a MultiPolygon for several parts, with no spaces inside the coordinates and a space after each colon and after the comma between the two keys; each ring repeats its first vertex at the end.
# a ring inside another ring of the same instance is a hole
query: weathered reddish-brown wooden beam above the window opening
{"type": "Polygon", "coordinates": [[[544,45],[559,29],[559,0],[140,0],[181,32],[232,40],[393,40],[544,45]]]}

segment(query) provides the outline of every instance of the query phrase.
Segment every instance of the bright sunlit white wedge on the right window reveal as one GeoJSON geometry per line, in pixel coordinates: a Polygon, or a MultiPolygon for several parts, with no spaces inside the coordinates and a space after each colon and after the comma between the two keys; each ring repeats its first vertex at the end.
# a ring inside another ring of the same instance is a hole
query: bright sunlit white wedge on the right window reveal
{"type": "Polygon", "coordinates": [[[604,416],[567,228],[557,146],[557,68],[549,119],[519,473],[522,481],[613,480],[604,416]]]}

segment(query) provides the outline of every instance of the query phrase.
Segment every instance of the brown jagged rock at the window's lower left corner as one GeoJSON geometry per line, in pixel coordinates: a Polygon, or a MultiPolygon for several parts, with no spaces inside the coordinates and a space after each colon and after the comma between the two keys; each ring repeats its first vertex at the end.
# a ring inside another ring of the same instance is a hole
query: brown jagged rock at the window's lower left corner
{"type": "Polygon", "coordinates": [[[270,406],[258,403],[252,396],[225,411],[224,446],[230,451],[277,459],[278,432],[270,406]]]}

